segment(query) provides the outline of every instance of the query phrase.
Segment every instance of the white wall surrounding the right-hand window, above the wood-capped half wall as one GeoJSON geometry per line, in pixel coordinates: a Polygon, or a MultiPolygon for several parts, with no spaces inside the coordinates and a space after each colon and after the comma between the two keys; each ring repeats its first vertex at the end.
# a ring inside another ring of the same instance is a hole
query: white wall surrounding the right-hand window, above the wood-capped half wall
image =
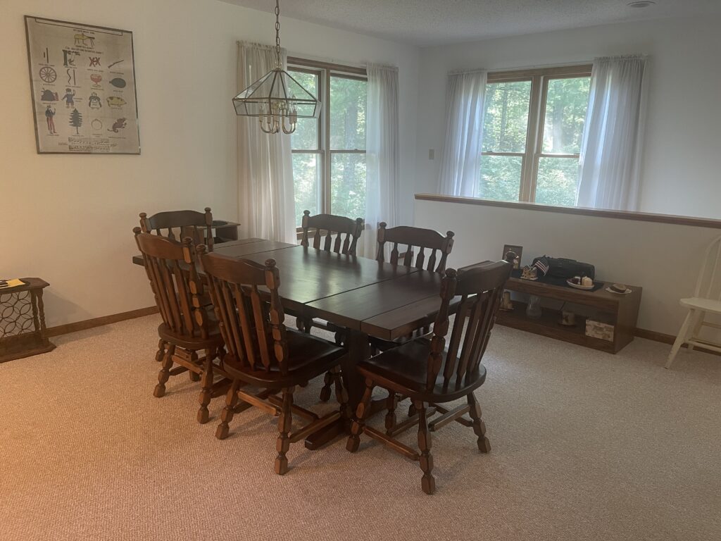
{"type": "Polygon", "coordinates": [[[446,74],[650,55],[640,210],[719,218],[721,17],[660,19],[426,48],[421,53],[417,192],[435,193],[445,135],[446,74]],[[422,114],[421,114],[422,113],[422,114]],[[435,149],[435,160],[428,160],[435,149]]]}

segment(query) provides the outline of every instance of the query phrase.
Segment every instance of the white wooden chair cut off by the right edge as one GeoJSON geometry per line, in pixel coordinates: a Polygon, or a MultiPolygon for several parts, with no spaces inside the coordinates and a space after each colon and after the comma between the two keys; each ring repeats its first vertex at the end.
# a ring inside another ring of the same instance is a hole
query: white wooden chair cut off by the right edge
{"type": "Polygon", "coordinates": [[[689,345],[689,351],[693,351],[694,346],[701,346],[721,353],[720,343],[699,338],[702,327],[721,329],[721,325],[705,321],[707,314],[721,315],[721,273],[717,272],[720,256],[721,237],[717,237],[709,244],[704,254],[704,263],[699,273],[699,279],[696,281],[694,296],[689,299],[681,299],[681,306],[688,308],[689,313],[681,325],[681,330],[678,331],[678,336],[676,336],[676,341],[673,343],[668,361],[666,361],[666,368],[671,368],[673,359],[676,359],[676,353],[684,344],[689,345]]]}

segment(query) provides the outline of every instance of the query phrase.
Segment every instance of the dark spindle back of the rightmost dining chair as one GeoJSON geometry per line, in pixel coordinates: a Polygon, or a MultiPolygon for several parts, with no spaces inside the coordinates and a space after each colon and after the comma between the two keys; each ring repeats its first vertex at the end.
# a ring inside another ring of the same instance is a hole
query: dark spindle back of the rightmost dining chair
{"type": "Polygon", "coordinates": [[[459,388],[469,383],[477,373],[495,323],[503,286],[512,268],[512,263],[498,261],[461,271],[446,270],[441,286],[441,309],[433,325],[428,356],[426,384],[429,391],[433,390],[438,374],[443,374],[444,387],[448,387],[455,376],[455,387],[459,388]],[[461,296],[461,299],[448,352],[443,359],[449,325],[448,310],[454,296],[461,296]]]}

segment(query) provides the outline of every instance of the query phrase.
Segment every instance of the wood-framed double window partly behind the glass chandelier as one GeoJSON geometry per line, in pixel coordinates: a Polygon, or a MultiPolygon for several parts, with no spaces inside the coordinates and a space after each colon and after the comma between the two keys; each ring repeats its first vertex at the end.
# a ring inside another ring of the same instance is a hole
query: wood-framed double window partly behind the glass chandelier
{"type": "Polygon", "coordinates": [[[365,216],[365,69],[288,58],[288,72],[322,103],[319,118],[298,120],[291,136],[296,224],[306,209],[365,216]]]}

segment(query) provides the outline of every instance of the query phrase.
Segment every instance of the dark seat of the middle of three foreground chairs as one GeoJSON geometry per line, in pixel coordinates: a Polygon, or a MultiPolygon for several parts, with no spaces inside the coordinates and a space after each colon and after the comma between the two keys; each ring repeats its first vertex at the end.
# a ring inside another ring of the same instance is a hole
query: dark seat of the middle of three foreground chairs
{"type": "Polygon", "coordinates": [[[338,364],[345,350],[317,336],[288,329],[288,373],[281,374],[278,365],[265,369],[256,363],[255,370],[243,366],[231,353],[223,359],[223,367],[231,376],[260,387],[286,387],[314,378],[338,364]]]}

